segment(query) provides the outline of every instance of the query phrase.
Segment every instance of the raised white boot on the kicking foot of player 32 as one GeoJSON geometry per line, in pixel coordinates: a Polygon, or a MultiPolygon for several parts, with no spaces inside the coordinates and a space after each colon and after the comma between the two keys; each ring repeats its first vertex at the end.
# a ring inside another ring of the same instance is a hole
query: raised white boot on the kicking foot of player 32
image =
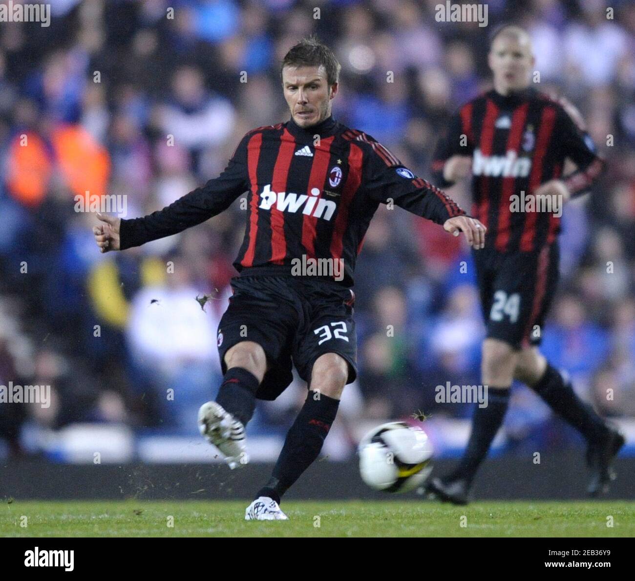
{"type": "Polygon", "coordinates": [[[198,424],[201,434],[224,454],[232,470],[249,462],[243,422],[234,419],[220,404],[204,403],[199,409],[198,424]]]}

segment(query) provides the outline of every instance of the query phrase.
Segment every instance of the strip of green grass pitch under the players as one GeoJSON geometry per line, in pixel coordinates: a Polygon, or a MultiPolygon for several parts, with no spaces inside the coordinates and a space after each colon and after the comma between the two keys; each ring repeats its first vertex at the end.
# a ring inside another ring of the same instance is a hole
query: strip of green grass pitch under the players
{"type": "Polygon", "coordinates": [[[289,521],[246,522],[241,501],[1,505],[2,537],[634,537],[635,502],[283,502],[289,521]],[[173,526],[169,526],[173,524],[173,526]],[[613,526],[608,526],[612,524],[613,526]],[[462,526],[463,525],[463,526],[462,526]]]}

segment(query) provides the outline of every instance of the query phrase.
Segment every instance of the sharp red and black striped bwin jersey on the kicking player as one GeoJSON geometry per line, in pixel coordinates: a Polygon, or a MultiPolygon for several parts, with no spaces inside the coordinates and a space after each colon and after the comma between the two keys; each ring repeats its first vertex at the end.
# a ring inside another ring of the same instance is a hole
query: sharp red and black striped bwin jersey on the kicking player
{"type": "Polygon", "coordinates": [[[121,249],[176,234],[246,196],[241,276],[276,274],[291,261],[342,260],[352,286],[356,257],[379,204],[443,224],[463,215],[383,145],[329,117],[306,130],[293,120],[249,131],[222,174],[163,210],[121,221],[121,249]]]}

